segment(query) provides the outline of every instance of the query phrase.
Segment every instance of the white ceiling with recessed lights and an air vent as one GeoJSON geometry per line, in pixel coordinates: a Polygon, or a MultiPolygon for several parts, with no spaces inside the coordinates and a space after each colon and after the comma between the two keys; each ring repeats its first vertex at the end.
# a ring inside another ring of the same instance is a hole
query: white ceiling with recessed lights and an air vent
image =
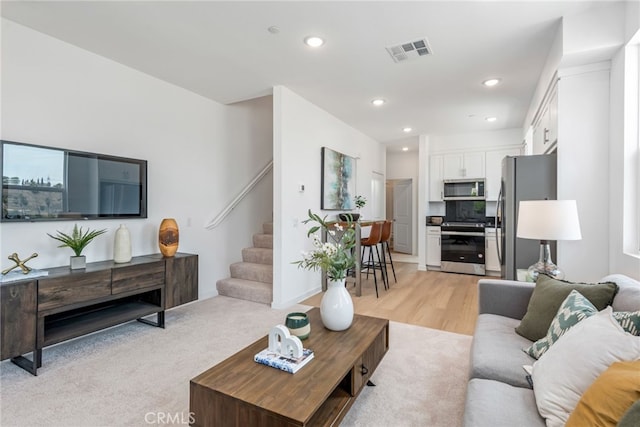
{"type": "Polygon", "coordinates": [[[410,135],[522,127],[561,16],[602,3],[3,1],[2,16],[224,104],[284,85],[406,145],[410,135]],[[325,45],[305,46],[312,34],[325,45]],[[422,37],[433,55],[395,63],[385,50],[422,37]],[[489,77],[502,84],[483,87],[489,77]],[[373,107],[375,97],[386,105],[373,107]]]}

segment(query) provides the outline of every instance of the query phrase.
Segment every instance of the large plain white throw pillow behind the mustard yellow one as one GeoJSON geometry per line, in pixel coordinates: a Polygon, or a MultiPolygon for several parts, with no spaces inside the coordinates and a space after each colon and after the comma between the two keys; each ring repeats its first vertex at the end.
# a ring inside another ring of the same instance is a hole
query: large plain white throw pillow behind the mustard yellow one
{"type": "Polygon", "coordinates": [[[611,307],[569,329],[533,364],[538,412],[564,426],[582,394],[614,362],[640,359],[640,337],[622,329],[611,307]]]}

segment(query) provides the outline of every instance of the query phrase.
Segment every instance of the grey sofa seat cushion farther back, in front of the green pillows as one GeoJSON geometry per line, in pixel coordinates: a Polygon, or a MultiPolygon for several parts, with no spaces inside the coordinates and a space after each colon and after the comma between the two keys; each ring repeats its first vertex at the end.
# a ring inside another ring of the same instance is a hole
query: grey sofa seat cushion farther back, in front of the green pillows
{"type": "Polygon", "coordinates": [[[496,314],[478,316],[471,346],[471,378],[531,388],[522,366],[533,364],[535,359],[522,351],[531,341],[515,333],[518,322],[496,314]]]}

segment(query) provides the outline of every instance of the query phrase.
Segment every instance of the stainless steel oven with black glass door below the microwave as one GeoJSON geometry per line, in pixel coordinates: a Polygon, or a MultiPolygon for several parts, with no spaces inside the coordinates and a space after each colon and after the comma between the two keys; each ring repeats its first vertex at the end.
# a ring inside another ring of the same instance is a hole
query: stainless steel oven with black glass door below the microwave
{"type": "Polygon", "coordinates": [[[445,222],[441,229],[441,270],[484,276],[484,223],[445,222]]]}

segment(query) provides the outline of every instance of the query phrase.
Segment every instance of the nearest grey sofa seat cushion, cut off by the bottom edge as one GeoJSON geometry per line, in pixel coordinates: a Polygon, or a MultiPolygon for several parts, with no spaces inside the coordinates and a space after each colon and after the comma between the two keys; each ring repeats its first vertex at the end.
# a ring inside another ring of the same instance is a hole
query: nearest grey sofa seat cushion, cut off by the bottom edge
{"type": "Polygon", "coordinates": [[[464,427],[543,427],[533,390],[474,378],[467,384],[464,427]]]}

